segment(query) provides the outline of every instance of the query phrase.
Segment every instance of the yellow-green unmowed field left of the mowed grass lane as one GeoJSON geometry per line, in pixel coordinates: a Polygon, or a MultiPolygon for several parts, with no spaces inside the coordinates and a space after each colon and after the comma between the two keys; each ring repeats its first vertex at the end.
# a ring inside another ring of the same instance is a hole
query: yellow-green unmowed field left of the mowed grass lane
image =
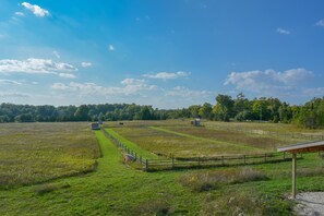
{"type": "Polygon", "coordinates": [[[88,123],[0,124],[0,185],[92,171],[100,149],[88,123]]]}

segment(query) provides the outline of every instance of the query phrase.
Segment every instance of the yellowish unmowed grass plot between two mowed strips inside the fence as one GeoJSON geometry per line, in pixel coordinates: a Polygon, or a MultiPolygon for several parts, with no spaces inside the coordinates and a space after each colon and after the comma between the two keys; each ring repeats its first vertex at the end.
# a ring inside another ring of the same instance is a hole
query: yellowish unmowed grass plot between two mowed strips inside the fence
{"type": "MultiPolygon", "coordinates": [[[[136,143],[142,148],[166,157],[212,157],[219,155],[249,154],[251,147],[216,144],[204,139],[192,139],[148,127],[113,128],[120,135],[136,143]]],[[[257,151],[257,148],[253,149],[257,151]]]]}

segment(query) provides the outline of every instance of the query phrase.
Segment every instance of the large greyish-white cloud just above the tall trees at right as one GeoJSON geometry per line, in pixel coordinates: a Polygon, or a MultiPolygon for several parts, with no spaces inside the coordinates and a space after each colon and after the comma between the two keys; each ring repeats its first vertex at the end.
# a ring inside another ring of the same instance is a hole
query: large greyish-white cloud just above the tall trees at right
{"type": "Polygon", "coordinates": [[[225,85],[235,85],[239,91],[249,91],[264,96],[289,95],[305,81],[314,77],[305,69],[291,69],[284,72],[274,70],[231,72],[225,85]]]}

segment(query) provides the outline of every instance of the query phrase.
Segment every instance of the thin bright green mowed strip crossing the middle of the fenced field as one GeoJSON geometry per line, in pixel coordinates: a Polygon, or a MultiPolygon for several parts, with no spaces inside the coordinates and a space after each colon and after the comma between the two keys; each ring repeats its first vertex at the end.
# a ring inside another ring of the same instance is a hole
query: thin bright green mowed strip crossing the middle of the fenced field
{"type": "Polygon", "coordinates": [[[232,147],[236,147],[237,149],[242,149],[242,151],[247,151],[247,149],[260,149],[260,148],[254,147],[254,146],[238,145],[238,144],[233,144],[233,143],[220,142],[220,141],[216,141],[216,140],[212,140],[212,139],[206,139],[206,137],[190,135],[190,134],[187,134],[187,133],[179,133],[179,132],[175,132],[175,131],[171,131],[171,130],[168,130],[168,129],[164,129],[164,128],[159,128],[159,127],[149,127],[149,128],[151,129],[154,129],[156,131],[171,133],[171,134],[183,136],[183,137],[189,137],[189,139],[193,139],[193,140],[209,142],[209,143],[213,143],[213,144],[217,144],[219,146],[227,146],[227,147],[232,146],[232,147]]]}

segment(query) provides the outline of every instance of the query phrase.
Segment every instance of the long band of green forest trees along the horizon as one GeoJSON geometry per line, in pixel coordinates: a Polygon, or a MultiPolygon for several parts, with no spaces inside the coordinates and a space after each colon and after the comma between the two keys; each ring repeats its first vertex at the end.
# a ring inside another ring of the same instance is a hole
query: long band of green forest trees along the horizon
{"type": "Polygon", "coordinates": [[[305,128],[324,127],[324,97],[304,105],[289,105],[277,98],[249,100],[240,93],[236,98],[217,95],[216,105],[192,105],[182,109],[154,109],[135,104],[81,106],[0,105],[0,122],[120,121],[203,118],[216,121],[268,121],[295,123],[305,128]]]}

